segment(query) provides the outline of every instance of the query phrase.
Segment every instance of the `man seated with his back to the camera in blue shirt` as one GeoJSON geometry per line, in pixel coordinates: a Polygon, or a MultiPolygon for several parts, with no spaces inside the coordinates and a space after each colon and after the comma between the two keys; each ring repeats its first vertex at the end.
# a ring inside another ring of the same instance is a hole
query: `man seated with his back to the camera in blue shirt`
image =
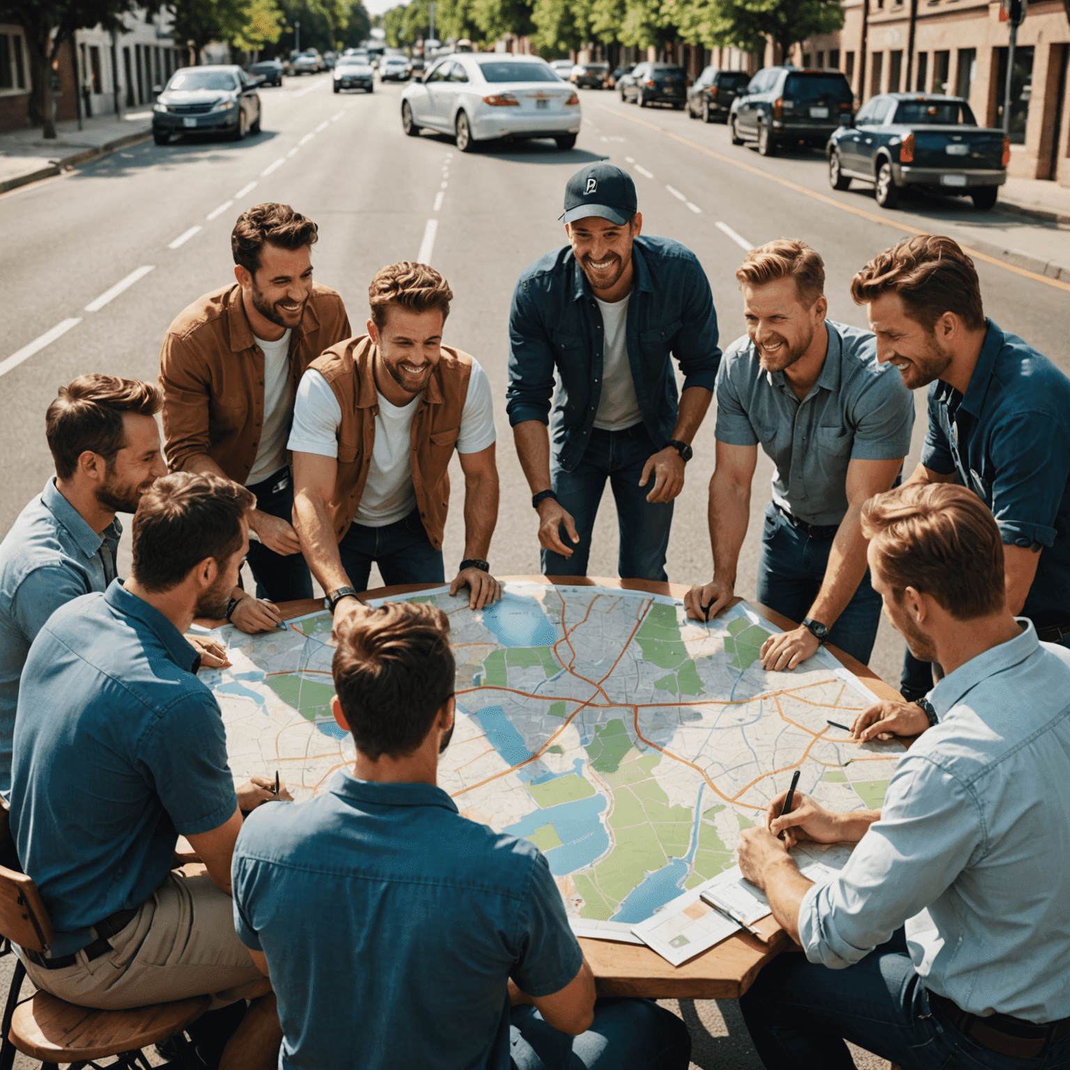
{"type": "Polygon", "coordinates": [[[456,681],[442,610],[351,617],[333,668],[353,769],[262,807],[234,851],[234,923],[278,995],[282,1070],[686,1070],[678,1018],[595,1002],[541,852],[437,786],[456,681]]]}

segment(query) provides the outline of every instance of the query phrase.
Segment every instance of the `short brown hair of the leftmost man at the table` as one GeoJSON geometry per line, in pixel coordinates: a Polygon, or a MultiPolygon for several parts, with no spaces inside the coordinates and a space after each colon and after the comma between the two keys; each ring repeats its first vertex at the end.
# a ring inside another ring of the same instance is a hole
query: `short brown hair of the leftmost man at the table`
{"type": "Polygon", "coordinates": [[[100,454],[110,468],[126,444],[123,413],[155,416],[163,404],[159,388],[140,379],[94,373],[61,386],[45,413],[45,437],[56,474],[70,479],[87,449],[100,454]]]}

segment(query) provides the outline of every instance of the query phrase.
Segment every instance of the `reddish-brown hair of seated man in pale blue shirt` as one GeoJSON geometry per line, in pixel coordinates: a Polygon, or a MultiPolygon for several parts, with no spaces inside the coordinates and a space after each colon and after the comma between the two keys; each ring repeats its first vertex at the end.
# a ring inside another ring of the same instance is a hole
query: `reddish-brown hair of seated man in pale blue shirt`
{"type": "Polygon", "coordinates": [[[862,534],[875,542],[897,601],[914,587],[962,621],[1005,603],[999,529],[965,487],[913,483],[875,494],[862,506],[862,534]]]}

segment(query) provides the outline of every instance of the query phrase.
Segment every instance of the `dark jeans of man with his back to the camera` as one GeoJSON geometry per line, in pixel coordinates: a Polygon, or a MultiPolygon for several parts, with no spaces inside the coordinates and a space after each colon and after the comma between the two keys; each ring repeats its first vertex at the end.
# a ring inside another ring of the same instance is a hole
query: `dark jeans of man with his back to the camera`
{"type": "Polygon", "coordinates": [[[510,1070],[687,1070],[691,1035],[652,999],[599,999],[578,1037],[559,1033],[532,1006],[513,1008],[510,1070]]]}

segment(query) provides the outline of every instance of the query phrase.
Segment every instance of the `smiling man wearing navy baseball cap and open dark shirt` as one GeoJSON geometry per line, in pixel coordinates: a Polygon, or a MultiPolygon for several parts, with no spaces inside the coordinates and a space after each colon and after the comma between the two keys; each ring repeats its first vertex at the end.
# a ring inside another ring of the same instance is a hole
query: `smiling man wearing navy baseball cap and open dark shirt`
{"type": "Polygon", "coordinates": [[[609,162],[568,180],[561,220],[569,244],[524,270],[509,311],[507,411],[542,571],[586,575],[608,478],[621,577],[664,580],[673,500],[721,357],[709,282],[690,249],[640,236],[636,184],[609,162]]]}

